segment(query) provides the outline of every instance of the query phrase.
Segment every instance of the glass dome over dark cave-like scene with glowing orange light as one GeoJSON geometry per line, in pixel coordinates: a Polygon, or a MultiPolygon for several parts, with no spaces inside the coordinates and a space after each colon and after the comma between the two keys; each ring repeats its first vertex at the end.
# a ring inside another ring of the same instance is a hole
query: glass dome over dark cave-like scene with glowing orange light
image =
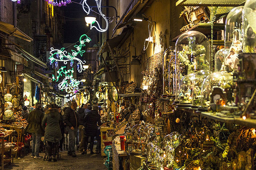
{"type": "Polygon", "coordinates": [[[222,117],[233,117],[238,109],[235,86],[233,76],[228,73],[208,75],[202,85],[201,109],[222,117]]]}

